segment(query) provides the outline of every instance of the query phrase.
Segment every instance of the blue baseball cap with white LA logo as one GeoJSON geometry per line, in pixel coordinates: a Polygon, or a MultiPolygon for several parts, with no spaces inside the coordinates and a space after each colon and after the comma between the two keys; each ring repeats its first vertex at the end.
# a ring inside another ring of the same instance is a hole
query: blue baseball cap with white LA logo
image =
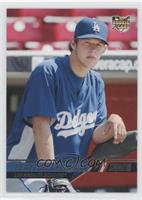
{"type": "Polygon", "coordinates": [[[75,39],[100,39],[106,44],[108,44],[107,37],[107,25],[96,18],[90,17],[85,17],[79,21],[74,32],[75,39]]]}

